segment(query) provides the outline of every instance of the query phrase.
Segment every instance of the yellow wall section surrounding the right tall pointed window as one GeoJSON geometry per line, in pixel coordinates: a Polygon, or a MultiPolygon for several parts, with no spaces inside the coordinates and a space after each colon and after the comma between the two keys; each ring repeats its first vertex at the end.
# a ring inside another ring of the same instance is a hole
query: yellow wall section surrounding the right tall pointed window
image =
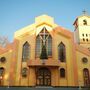
{"type": "Polygon", "coordinates": [[[74,76],[73,76],[73,67],[72,67],[72,47],[71,47],[71,41],[70,39],[64,37],[63,35],[56,34],[54,37],[54,57],[56,60],[58,60],[58,45],[60,42],[63,42],[66,46],[66,62],[61,63],[60,62],[60,68],[64,68],[66,70],[66,77],[60,78],[59,76],[59,82],[60,86],[72,86],[74,84],[74,76]]]}

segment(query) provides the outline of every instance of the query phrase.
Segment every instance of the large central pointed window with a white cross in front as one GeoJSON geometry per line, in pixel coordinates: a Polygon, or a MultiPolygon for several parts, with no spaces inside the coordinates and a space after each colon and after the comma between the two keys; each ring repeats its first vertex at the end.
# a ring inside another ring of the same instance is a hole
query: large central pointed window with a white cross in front
{"type": "Polygon", "coordinates": [[[42,31],[36,37],[36,57],[41,57],[43,54],[52,56],[52,37],[44,27],[42,31]],[[45,51],[43,52],[43,47],[45,51]]]}

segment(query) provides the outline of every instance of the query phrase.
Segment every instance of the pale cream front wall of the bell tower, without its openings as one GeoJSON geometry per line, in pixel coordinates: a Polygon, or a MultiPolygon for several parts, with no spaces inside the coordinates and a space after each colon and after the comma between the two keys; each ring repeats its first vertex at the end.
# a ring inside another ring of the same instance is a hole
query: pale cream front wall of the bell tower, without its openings
{"type": "Polygon", "coordinates": [[[88,42],[85,40],[84,43],[90,43],[90,17],[82,16],[78,18],[78,30],[80,42],[83,42],[82,39],[84,38],[89,40],[88,42]],[[87,20],[87,25],[83,25],[84,19],[87,20]],[[82,34],[84,34],[84,36],[82,36],[82,34]],[[88,36],[86,36],[86,34],[88,36]]]}

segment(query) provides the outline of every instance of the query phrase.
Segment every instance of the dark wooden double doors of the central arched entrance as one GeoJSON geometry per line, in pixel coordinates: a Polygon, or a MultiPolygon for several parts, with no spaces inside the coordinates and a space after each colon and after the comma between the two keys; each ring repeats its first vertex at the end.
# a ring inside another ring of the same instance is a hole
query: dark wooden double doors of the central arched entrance
{"type": "Polygon", "coordinates": [[[48,68],[40,68],[36,75],[37,86],[51,86],[51,72],[48,68]]]}

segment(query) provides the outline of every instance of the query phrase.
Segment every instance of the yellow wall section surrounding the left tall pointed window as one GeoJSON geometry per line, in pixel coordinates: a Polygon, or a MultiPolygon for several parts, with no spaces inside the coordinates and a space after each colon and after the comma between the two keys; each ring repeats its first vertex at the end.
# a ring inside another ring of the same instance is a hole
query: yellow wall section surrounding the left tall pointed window
{"type": "MultiPolygon", "coordinates": [[[[18,49],[18,58],[17,58],[17,70],[16,70],[16,85],[19,85],[20,82],[22,81],[21,78],[21,70],[23,67],[28,67],[27,62],[22,62],[22,48],[24,43],[28,41],[30,44],[30,60],[35,59],[35,35],[28,35],[26,37],[22,37],[22,39],[19,40],[19,49],[18,49]]],[[[24,82],[27,82],[27,79],[24,79],[24,82]]],[[[22,84],[25,85],[25,84],[22,84]]]]}

